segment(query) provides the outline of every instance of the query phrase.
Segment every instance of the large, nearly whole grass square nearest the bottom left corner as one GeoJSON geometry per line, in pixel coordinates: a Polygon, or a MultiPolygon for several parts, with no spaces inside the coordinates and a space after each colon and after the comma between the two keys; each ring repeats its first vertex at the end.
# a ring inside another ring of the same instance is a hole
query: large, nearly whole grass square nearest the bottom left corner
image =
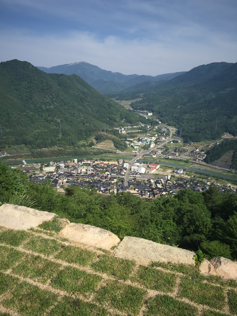
{"type": "Polygon", "coordinates": [[[22,282],[16,286],[8,298],[2,301],[3,307],[11,308],[21,315],[44,315],[46,309],[54,304],[57,295],[52,292],[22,282]]]}

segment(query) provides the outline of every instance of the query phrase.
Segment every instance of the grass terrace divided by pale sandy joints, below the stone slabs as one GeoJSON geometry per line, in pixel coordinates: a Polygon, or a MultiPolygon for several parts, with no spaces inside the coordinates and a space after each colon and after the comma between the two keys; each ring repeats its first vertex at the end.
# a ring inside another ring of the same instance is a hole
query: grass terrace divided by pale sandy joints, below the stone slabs
{"type": "Polygon", "coordinates": [[[237,313],[237,283],[194,266],[112,257],[70,245],[59,219],[27,232],[0,228],[0,315],[237,313]]]}

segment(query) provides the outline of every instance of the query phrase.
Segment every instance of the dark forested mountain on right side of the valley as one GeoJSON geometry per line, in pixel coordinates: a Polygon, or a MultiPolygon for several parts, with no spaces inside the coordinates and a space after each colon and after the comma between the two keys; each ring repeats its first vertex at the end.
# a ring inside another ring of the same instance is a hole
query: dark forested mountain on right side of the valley
{"type": "MultiPolygon", "coordinates": [[[[131,97],[138,91],[143,100],[132,103],[133,109],[155,112],[176,126],[185,142],[237,135],[237,63],[198,66],[170,81],[133,89],[131,97]]],[[[129,90],[124,93],[129,96],[129,90]]]]}

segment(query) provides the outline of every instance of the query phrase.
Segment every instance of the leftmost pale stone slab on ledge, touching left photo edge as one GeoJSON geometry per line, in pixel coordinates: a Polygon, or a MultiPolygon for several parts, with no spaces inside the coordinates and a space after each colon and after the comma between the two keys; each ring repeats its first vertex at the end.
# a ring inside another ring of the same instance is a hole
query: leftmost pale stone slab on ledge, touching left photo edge
{"type": "Polygon", "coordinates": [[[34,210],[26,206],[3,204],[0,207],[0,226],[10,229],[27,230],[49,221],[56,214],[34,210]]]}

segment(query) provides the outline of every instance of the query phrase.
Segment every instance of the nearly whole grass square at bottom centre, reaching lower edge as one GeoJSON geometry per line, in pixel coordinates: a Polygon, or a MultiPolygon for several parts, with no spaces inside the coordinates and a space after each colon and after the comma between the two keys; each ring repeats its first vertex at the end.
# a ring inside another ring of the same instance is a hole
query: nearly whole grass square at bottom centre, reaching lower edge
{"type": "Polygon", "coordinates": [[[94,300],[100,304],[108,304],[112,308],[130,315],[137,315],[143,305],[147,291],[131,285],[108,280],[106,286],[99,289],[94,300]]]}

